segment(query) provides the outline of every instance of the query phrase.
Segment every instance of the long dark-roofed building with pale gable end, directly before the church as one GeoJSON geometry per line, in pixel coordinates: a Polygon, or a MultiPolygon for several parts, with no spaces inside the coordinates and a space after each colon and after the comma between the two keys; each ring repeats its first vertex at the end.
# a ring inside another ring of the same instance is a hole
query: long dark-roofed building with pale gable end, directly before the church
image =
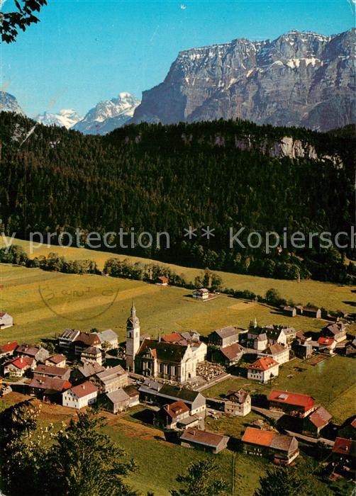
{"type": "Polygon", "coordinates": [[[162,406],[166,403],[182,400],[189,407],[191,415],[197,415],[201,418],[206,416],[205,397],[197,391],[149,380],[146,380],[138,391],[144,402],[162,406]]]}

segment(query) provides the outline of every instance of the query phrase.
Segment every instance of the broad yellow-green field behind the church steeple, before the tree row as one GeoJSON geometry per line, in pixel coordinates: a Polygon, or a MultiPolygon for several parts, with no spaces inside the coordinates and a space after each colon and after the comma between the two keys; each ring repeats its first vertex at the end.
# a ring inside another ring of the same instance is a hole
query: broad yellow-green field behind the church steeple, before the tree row
{"type": "MultiPolygon", "coordinates": [[[[196,329],[206,335],[226,325],[247,328],[257,318],[261,325],[279,323],[296,329],[318,330],[322,320],[286,317],[267,305],[226,295],[201,302],[184,288],[162,287],[94,275],[72,275],[0,264],[0,310],[14,317],[15,325],[0,333],[0,342],[17,339],[38,342],[66,327],[82,330],[114,329],[124,339],[132,300],[141,332],[196,329]]],[[[347,288],[350,291],[350,288],[347,288]]]]}

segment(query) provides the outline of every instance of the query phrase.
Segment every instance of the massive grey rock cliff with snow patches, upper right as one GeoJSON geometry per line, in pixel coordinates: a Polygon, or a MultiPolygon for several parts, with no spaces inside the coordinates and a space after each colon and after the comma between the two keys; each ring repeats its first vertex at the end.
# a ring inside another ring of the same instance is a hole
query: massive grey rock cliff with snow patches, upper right
{"type": "Polygon", "coordinates": [[[354,45],[355,30],[293,30],[272,41],[185,50],[128,122],[240,118],[317,130],[355,123],[354,45]]]}

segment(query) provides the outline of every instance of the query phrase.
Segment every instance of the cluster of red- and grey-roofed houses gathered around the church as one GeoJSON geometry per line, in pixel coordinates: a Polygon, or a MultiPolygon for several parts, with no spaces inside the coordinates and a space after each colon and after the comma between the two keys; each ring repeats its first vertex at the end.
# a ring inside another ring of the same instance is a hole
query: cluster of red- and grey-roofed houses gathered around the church
{"type": "MultiPolygon", "coordinates": [[[[167,281],[161,278],[160,284],[165,286],[167,281]]],[[[206,298],[205,291],[196,293],[206,298]]],[[[196,331],[172,332],[156,340],[141,334],[133,304],[126,324],[125,364],[106,365],[108,352],[119,348],[112,329],[91,333],[65,329],[57,339],[55,354],[43,346],[9,342],[0,346],[0,359],[4,376],[19,379],[16,385],[23,393],[78,410],[99,403],[114,414],[141,402],[150,408],[153,424],[176,433],[182,446],[219,453],[230,439],[205,430],[206,398],[191,388],[197,376],[205,374],[208,381],[213,380],[247,354],[254,356],[246,366],[247,379],[267,383],[289,361],[291,350],[304,359],[315,350],[333,354],[345,338],[343,322],[324,327],[314,342],[294,327],[261,327],[255,320],[246,332],[228,326],[211,332],[204,341],[196,331]]],[[[349,346],[356,347],[356,343],[349,346]]],[[[301,393],[274,389],[267,401],[269,410],[299,419],[300,432],[306,436],[319,436],[332,418],[314,398],[301,393]]],[[[245,417],[252,408],[250,394],[243,388],[229,390],[216,402],[216,409],[231,417],[245,417]]],[[[338,439],[335,459],[352,458],[352,452],[355,460],[355,442],[338,439]]],[[[275,429],[247,427],[240,442],[245,453],[265,456],[274,463],[288,465],[299,456],[296,438],[275,429]]]]}

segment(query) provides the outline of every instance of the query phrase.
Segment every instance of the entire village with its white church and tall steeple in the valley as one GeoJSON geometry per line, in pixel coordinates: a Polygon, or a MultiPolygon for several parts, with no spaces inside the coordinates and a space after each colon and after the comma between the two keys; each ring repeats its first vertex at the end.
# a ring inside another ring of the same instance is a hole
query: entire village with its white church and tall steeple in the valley
{"type": "MultiPolygon", "coordinates": [[[[165,286],[168,280],[161,276],[159,283],[165,286]]],[[[201,288],[191,297],[205,304],[218,295],[201,288]]],[[[318,308],[284,306],[279,311],[296,320],[298,315],[321,318],[318,308]]],[[[143,405],[145,422],[162,429],[169,442],[211,453],[240,450],[277,465],[296,463],[301,443],[322,444],[326,473],[352,480],[356,416],[338,426],[312,395],[273,387],[279,371],[296,358],[317,365],[337,355],[344,360],[355,356],[347,315],[325,324],[318,339],[294,327],[260,326],[256,319],[247,329],[230,325],[212,329],[207,337],[191,330],[152,339],[141,332],[133,302],[125,342],[112,329],[64,329],[41,344],[1,344],[1,397],[14,391],[72,410],[94,407],[115,415],[143,405]],[[245,387],[269,385],[269,393],[252,395],[246,387],[204,395],[231,377],[245,378],[245,387]],[[265,421],[249,422],[251,412],[265,421]],[[239,439],[209,429],[221,417],[246,417],[239,439]]],[[[13,317],[2,312],[1,329],[12,325],[13,317]]]]}

